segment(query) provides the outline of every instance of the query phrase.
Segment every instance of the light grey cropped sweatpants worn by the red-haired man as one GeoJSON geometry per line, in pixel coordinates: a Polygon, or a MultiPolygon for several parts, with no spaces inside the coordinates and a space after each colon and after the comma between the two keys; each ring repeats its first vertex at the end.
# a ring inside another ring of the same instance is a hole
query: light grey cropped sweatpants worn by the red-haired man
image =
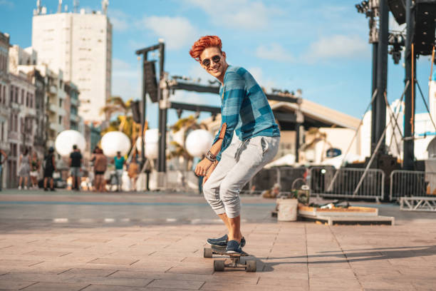
{"type": "Polygon", "coordinates": [[[276,156],[279,142],[279,136],[255,136],[246,141],[238,139],[224,150],[217,168],[203,187],[204,198],[215,213],[227,213],[229,218],[240,215],[239,192],[276,156]]]}

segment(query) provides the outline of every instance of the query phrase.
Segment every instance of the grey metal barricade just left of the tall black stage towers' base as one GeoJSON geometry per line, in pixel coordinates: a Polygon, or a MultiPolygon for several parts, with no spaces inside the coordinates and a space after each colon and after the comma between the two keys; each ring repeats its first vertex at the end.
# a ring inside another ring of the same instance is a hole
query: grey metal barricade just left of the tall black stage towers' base
{"type": "Polygon", "coordinates": [[[309,180],[311,195],[382,199],[385,188],[385,173],[378,169],[368,169],[359,185],[363,173],[365,173],[365,169],[358,168],[311,168],[309,180]]]}

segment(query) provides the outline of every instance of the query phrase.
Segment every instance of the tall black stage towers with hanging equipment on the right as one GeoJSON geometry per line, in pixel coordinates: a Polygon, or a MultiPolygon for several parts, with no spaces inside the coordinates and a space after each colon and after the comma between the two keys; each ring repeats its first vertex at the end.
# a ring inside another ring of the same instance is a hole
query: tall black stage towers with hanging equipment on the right
{"type": "MultiPolygon", "coordinates": [[[[359,13],[369,18],[369,42],[373,46],[372,118],[370,168],[380,168],[388,175],[395,170],[396,158],[385,148],[386,108],[388,105],[388,53],[395,64],[400,63],[405,50],[405,120],[403,136],[403,169],[415,170],[414,125],[416,57],[430,55],[435,44],[436,0],[369,0],[355,5],[359,13]],[[403,31],[389,31],[389,11],[398,24],[406,24],[403,31]],[[388,46],[391,46],[388,51],[388,46]]],[[[424,100],[425,102],[425,100],[424,100]]],[[[427,104],[425,103],[427,106],[427,104]]],[[[391,116],[393,113],[390,113],[391,116]]],[[[395,118],[398,131],[398,121],[395,118]]]]}

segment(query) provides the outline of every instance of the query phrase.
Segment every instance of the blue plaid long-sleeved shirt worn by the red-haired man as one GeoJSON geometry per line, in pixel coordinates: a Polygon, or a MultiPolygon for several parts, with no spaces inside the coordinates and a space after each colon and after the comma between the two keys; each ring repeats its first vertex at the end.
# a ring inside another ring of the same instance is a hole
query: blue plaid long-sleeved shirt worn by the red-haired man
{"type": "MultiPolygon", "coordinates": [[[[254,136],[280,136],[264,91],[245,68],[227,67],[219,96],[222,98],[221,125],[227,123],[227,130],[217,160],[221,160],[222,152],[232,142],[233,131],[241,141],[254,136]]],[[[219,132],[213,143],[217,142],[218,136],[219,132]]]]}

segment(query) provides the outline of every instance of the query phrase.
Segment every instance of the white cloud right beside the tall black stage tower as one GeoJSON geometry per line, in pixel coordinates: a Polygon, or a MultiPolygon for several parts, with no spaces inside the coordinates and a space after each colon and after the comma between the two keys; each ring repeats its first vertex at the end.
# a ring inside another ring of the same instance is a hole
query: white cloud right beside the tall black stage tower
{"type": "Polygon", "coordinates": [[[308,61],[319,58],[362,58],[369,56],[368,41],[359,36],[323,36],[313,42],[303,56],[308,61]]]}

